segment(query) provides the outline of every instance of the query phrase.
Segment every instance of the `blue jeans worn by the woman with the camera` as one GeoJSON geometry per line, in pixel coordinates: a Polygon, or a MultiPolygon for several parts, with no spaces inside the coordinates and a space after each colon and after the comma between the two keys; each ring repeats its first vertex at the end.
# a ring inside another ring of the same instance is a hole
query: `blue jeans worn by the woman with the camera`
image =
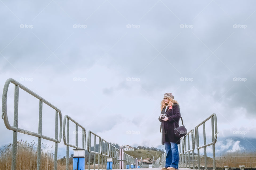
{"type": "Polygon", "coordinates": [[[179,169],[179,150],[178,144],[174,142],[165,142],[166,161],[165,168],[173,167],[179,169]]]}

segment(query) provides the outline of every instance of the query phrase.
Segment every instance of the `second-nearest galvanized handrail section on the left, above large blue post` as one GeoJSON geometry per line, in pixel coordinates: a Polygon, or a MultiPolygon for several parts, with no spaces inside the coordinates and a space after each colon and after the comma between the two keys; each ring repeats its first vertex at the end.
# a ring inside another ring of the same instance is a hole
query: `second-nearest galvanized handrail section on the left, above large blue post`
{"type": "Polygon", "coordinates": [[[69,146],[76,148],[76,149],[84,149],[85,145],[86,145],[86,130],[85,128],[80,125],[77,121],[75,121],[74,119],[72,119],[70,116],[65,115],[64,119],[63,119],[63,142],[64,145],[67,146],[67,150],[66,150],[66,170],[69,169],[69,146]],[[66,121],[67,121],[67,135],[66,135],[66,121]],[[69,121],[72,121],[75,123],[75,145],[72,145],[69,143],[69,121]],[[82,128],[82,148],[78,147],[78,126],[80,128],[82,128]],[[67,136],[67,138],[66,138],[67,136]]]}

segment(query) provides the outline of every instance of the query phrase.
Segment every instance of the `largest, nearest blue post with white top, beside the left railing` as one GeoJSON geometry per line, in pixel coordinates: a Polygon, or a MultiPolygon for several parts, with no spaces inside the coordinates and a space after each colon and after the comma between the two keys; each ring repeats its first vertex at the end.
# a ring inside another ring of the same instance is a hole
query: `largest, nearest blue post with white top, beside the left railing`
{"type": "Polygon", "coordinates": [[[85,170],[85,149],[73,149],[73,151],[73,170],[85,170]]]}

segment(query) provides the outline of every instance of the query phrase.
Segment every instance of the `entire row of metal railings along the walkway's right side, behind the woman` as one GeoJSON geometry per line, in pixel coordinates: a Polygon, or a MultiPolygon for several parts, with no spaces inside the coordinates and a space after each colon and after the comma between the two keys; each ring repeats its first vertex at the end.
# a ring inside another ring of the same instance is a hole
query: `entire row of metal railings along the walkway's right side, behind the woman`
{"type": "MultiPolygon", "coordinates": [[[[198,169],[200,169],[200,159],[195,160],[195,157],[198,157],[197,155],[199,154],[199,149],[204,148],[204,162],[205,162],[205,169],[207,169],[207,163],[213,163],[213,169],[216,169],[216,163],[224,163],[224,162],[216,162],[216,157],[215,157],[215,143],[217,142],[217,116],[215,113],[211,114],[209,117],[207,117],[204,121],[199,123],[197,126],[195,126],[195,131],[194,129],[191,129],[187,134],[181,138],[181,143],[178,145],[179,147],[179,166],[182,168],[191,168],[191,155],[190,152],[192,152],[192,166],[193,169],[195,169],[195,162],[198,162],[198,169]],[[211,119],[211,133],[212,133],[212,142],[206,144],[206,134],[205,134],[205,122],[207,120],[211,119]],[[203,146],[199,146],[199,132],[198,132],[198,127],[203,125],[203,146]],[[190,135],[191,134],[191,141],[190,141],[190,135]],[[183,140],[184,139],[184,140],[183,140]],[[188,143],[188,145],[187,145],[188,143]],[[194,150],[195,150],[195,143],[197,145],[197,155],[194,155],[194,150]],[[190,149],[190,144],[192,148],[190,149]],[[207,157],[209,156],[206,155],[206,147],[211,146],[213,147],[213,162],[207,161],[207,157]],[[187,150],[188,149],[188,150],[187,150]],[[188,155],[187,155],[188,153],[188,155]],[[187,160],[188,159],[188,160],[187,160]],[[185,164],[185,165],[184,165],[185,164]],[[188,164],[188,166],[187,166],[188,164]]],[[[222,156],[219,156],[222,157],[222,156]]],[[[202,158],[202,157],[201,157],[202,158]]],[[[225,157],[224,157],[225,158],[225,157]]],[[[225,158],[226,159],[226,158],[225,158]]],[[[165,162],[166,162],[166,152],[161,155],[161,164],[162,167],[165,167],[165,162]]],[[[226,162],[226,160],[225,160],[226,162]]]]}

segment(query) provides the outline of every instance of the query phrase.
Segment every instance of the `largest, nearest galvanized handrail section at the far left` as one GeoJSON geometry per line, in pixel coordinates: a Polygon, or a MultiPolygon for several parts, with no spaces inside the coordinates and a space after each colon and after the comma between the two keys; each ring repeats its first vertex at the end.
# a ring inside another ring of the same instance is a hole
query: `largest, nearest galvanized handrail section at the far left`
{"type": "Polygon", "coordinates": [[[38,147],[37,147],[37,169],[40,168],[40,161],[41,161],[41,144],[42,139],[46,139],[49,141],[55,142],[54,147],[54,170],[57,169],[57,152],[58,152],[58,143],[61,142],[62,138],[62,114],[61,111],[55,107],[53,104],[48,102],[47,100],[43,99],[41,96],[37,95],[27,87],[23,86],[21,83],[17,82],[16,80],[9,78],[6,80],[5,85],[3,87],[3,96],[2,96],[2,119],[5,123],[7,129],[13,131],[13,147],[12,147],[12,163],[11,169],[16,169],[16,152],[17,152],[17,132],[28,134],[31,136],[38,137],[38,147]],[[7,92],[10,83],[15,85],[14,87],[14,118],[13,118],[13,126],[10,125],[8,116],[7,116],[7,92]],[[27,93],[31,94],[32,96],[39,99],[39,120],[38,120],[38,133],[18,128],[18,105],[19,105],[19,88],[26,91],[27,93]],[[43,103],[47,104],[51,108],[55,109],[55,138],[50,138],[45,135],[42,135],[42,109],[43,103]],[[58,138],[58,118],[59,118],[59,138],[58,138]]]}

